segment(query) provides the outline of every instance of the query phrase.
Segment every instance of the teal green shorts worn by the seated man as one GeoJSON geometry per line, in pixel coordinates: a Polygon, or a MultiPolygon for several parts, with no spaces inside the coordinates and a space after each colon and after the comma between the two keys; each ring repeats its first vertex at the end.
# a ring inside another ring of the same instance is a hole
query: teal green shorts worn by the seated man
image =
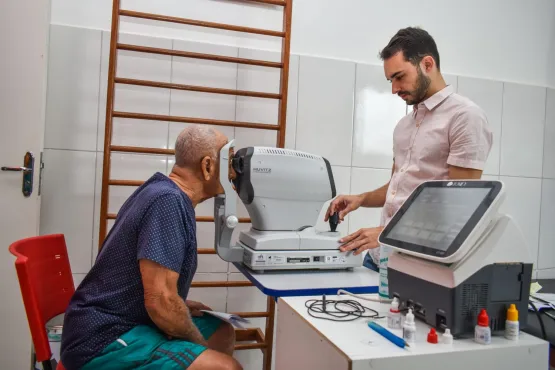
{"type": "MultiPolygon", "coordinates": [[[[210,338],[222,321],[210,316],[193,317],[205,339],[210,338]]],[[[206,347],[180,339],[168,339],[160,330],[137,326],[110,343],[82,370],[187,369],[206,347]]]]}

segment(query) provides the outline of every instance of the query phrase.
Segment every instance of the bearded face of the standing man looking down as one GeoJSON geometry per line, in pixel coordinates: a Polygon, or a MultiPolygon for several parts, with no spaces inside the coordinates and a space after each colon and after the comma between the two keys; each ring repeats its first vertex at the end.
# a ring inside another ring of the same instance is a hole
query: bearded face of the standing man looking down
{"type": "Polygon", "coordinates": [[[405,60],[403,52],[398,52],[384,61],[385,77],[391,81],[391,93],[397,94],[408,105],[422,102],[431,79],[421,68],[405,60]]]}

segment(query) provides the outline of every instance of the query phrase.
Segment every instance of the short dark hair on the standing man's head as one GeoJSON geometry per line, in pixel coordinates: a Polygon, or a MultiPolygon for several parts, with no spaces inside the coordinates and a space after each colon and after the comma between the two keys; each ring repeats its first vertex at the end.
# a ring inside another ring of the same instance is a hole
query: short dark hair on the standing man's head
{"type": "Polygon", "coordinates": [[[439,52],[436,42],[430,34],[418,27],[400,29],[391,38],[389,44],[380,52],[380,58],[387,60],[402,51],[407,62],[418,65],[420,61],[430,55],[434,58],[439,70],[439,52]]]}

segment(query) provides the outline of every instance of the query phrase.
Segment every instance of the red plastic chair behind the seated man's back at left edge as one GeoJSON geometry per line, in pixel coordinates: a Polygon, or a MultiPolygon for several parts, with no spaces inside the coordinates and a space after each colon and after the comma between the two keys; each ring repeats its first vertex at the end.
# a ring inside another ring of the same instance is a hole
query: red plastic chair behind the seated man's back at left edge
{"type": "MultiPolygon", "coordinates": [[[[14,242],[9,249],[17,257],[15,268],[37,361],[44,370],[52,370],[46,323],[65,312],[75,291],[65,238],[37,236],[14,242]]],[[[56,370],[65,370],[61,362],[56,370]]]]}

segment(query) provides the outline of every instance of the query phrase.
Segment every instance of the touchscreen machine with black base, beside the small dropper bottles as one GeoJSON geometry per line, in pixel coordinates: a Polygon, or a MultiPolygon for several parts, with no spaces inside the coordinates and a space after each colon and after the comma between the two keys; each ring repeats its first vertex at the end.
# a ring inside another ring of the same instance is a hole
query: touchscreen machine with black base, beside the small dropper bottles
{"type": "Polygon", "coordinates": [[[429,181],[404,202],[379,241],[393,248],[390,297],[454,336],[472,335],[486,309],[503,330],[511,303],[525,326],[532,278],[528,243],[500,207],[500,181],[429,181]]]}

